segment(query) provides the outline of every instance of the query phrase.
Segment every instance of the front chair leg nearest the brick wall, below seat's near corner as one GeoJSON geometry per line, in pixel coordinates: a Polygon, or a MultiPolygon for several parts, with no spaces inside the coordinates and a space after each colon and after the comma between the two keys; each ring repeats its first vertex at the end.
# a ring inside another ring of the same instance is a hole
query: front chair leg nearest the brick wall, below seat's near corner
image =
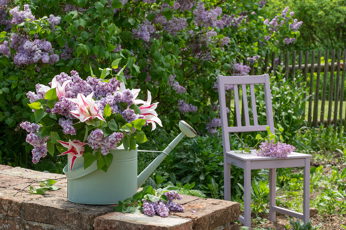
{"type": "Polygon", "coordinates": [[[251,229],[251,161],[244,167],[244,226],[251,229]]]}

